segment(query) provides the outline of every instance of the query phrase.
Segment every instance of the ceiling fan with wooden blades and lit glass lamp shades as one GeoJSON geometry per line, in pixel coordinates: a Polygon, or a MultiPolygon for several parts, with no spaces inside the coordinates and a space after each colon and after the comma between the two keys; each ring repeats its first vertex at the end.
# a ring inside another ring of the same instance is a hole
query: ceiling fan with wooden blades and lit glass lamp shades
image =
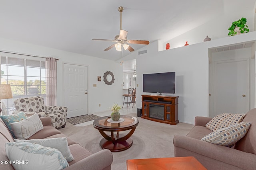
{"type": "Polygon", "coordinates": [[[120,12],[120,33],[119,35],[115,36],[114,40],[111,39],[92,39],[92,40],[102,40],[102,41],[112,41],[112,42],[116,42],[113,45],[110,45],[108,48],[104,49],[104,51],[108,51],[109,49],[112,49],[113,47],[116,47],[117,51],[122,51],[122,47],[124,48],[124,50],[129,50],[129,51],[134,51],[134,49],[128,45],[128,44],[144,44],[144,45],[148,45],[149,41],[146,40],[128,40],[126,35],[127,35],[127,31],[122,29],[122,12],[123,12],[123,7],[120,6],[118,7],[118,11],[120,12]],[[127,44],[128,43],[128,44],[127,44]]]}

